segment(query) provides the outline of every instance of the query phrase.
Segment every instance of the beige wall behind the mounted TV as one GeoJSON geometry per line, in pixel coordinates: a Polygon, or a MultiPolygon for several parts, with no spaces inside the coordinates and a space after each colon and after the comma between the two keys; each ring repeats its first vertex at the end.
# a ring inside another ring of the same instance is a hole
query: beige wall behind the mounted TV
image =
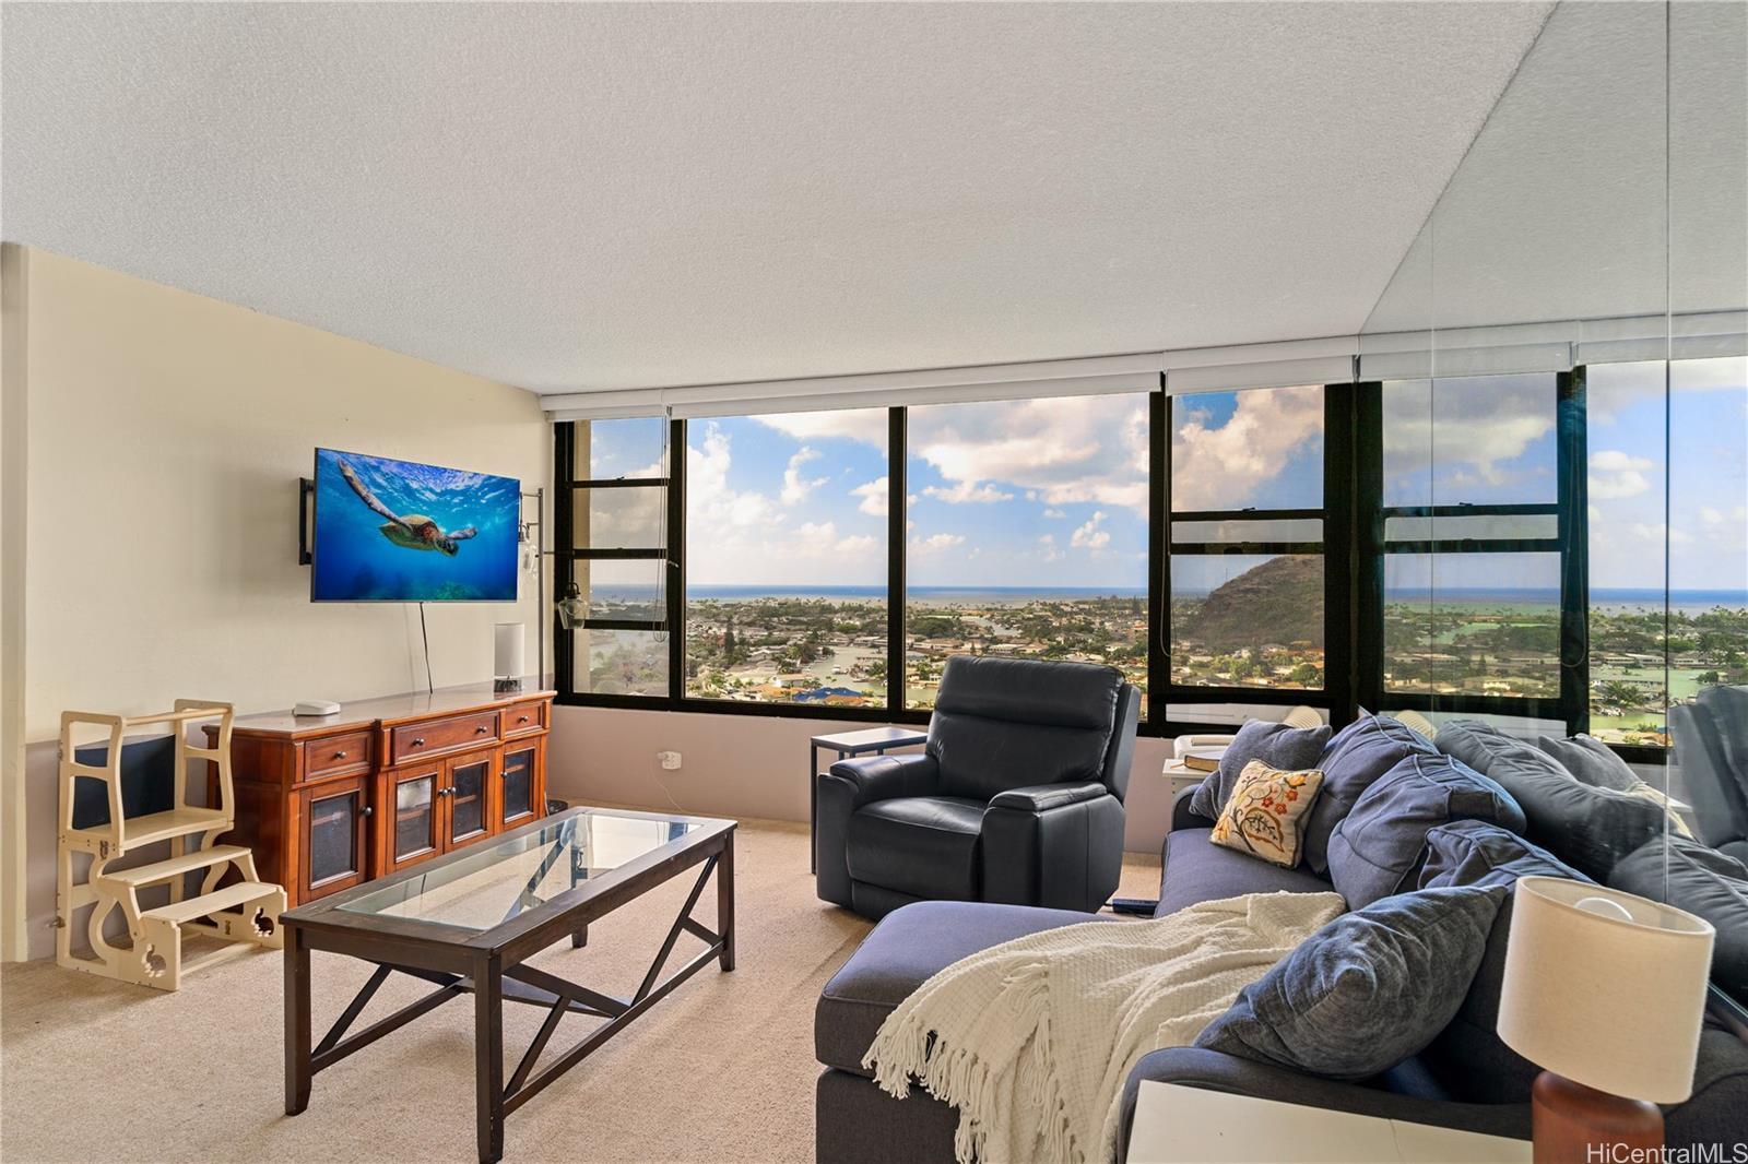
{"type": "MultiPolygon", "coordinates": [[[[537,398],[517,388],[47,252],[7,250],[9,325],[10,276],[19,259],[28,266],[16,304],[26,355],[14,371],[9,343],[0,475],[10,544],[7,437],[28,411],[16,711],[30,745],[30,947],[42,951],[56,804],[54,748],[44,745],[63,710],[147,711],[177,696],[267,710],[425,683],[416,606],[309,603],[297,479],[309,475],[315,446],[505,474],[533,489],[551,479],[551,437],[537,398]],[[28,409],[12,407],[17,391],[28,409]]],[[[514,606],[428,606],[435,682],[491,675],[493,622],[524,622],[533,657],[535,605],[530,575],[514,606]]],[[[16,739],[9,745],[14,757],[16,739]]]]}

